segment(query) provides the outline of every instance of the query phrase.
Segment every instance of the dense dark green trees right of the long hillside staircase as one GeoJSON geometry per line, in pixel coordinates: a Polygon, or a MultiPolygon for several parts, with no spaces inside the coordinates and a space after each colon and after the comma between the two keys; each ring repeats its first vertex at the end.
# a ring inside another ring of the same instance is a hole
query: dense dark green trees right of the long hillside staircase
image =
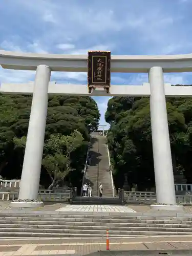
{"type": "MultiPolygon", "coordinates": [[[[167,98],[166,105],[174,174],[192,183],[192,99],[167,98]]],[[[130,186],[154,187],[149,98],[113,97],[105,120],[111,124],[108,144],[116,187],[123,186],[125,174],[130,186]]]]}

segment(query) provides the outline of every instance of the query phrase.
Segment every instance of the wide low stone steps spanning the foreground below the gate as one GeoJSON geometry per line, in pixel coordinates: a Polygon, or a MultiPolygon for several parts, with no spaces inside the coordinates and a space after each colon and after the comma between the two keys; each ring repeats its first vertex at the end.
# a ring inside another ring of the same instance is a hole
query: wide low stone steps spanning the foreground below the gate
{"type": "Polygon", "coordinates": [[[192,234],[191,217],[143,216],[115,212],[0,213],[0,239],[105,238],[192,234]]]}

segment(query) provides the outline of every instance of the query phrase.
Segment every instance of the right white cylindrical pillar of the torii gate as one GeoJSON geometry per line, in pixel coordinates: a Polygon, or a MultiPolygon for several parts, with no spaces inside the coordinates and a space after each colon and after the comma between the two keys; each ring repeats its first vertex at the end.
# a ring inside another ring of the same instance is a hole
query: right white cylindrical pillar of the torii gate
{"type": "Polygon", "coordinates": [[[167,121],[166,99],[161,67],[149,72],[150,112],[157,203],[176,204],[172,154],[167,121]]]}

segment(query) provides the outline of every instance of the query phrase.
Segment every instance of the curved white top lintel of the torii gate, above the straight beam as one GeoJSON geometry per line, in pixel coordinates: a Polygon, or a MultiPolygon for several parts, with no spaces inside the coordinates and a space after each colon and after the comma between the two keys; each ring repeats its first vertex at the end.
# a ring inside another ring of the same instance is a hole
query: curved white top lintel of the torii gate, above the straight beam
{"type": "MultiPolygon", "coordinates": [[[[88,55],[37,54],[0,50],[4,69],[36,70],[47,65],[52,71],[88,72],[88,55]]],[[[163,72],[191,72],[192,54],[179,55],[112,55],[111,72],[147,73],[152,67],[163,72]]]]}

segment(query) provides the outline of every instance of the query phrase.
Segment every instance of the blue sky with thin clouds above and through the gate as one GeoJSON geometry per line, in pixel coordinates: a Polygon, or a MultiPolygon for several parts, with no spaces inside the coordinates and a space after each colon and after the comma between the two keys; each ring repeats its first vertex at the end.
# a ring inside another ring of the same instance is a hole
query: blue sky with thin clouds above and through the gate
{"type": "MultiPolygon", "coordinates": [[[[0,48],[35,53],[113,55],[192,53],[192,0],[1,0],[0,48]]],[[[27,82],[34,72],[0,69],[0,82],[27,82]]],[[[165,82],[192,84],[191,73],[165,82]]],[[[51,80],[87,83],[86,73],[53,72],[51,80]]],[[[112,84],[142,84],[146,74],[112,74],[112,84]]],[[[94,97],[105,124],[109,97],[94,97]]]]}

